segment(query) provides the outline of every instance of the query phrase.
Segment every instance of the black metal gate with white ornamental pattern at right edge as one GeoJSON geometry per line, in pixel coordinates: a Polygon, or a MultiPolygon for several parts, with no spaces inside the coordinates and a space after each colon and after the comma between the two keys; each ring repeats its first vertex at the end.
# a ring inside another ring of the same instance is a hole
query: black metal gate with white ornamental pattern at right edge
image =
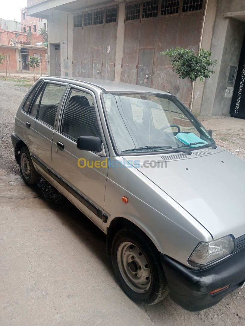
{"type": "Polygon", "coordinates": [[[237,78],[231,101],[230,115],[245,118],[245,38],[243,40],[237,78]]]}

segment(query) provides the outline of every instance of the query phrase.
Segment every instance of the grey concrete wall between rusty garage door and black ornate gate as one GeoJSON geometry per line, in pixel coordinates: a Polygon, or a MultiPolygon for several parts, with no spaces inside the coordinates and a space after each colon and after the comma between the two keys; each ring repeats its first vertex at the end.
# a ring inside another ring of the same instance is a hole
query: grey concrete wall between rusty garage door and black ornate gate
{"type": "Polygon", "coordinates": [[[201,115],[228,115],[231,98],[225,98],[229,66],[238,66],[245,24],[225,18],[226,12],[245,10],[244,0],[222,0],[218,2],[216,20],[211,42],[212,59],[219,61],[214,68],[215,74],[205,82],[201,115]]]}

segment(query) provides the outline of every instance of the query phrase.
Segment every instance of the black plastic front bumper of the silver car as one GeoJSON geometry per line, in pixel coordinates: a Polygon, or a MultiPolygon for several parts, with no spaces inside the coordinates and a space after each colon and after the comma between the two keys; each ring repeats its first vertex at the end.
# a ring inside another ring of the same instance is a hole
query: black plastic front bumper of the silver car
{"type": "Polygon", "coordinates": [[[169,284],[170,298],[189,311],[200,311],[217,304],[245,281],[245,249],[198,271],[163,254],[161,262],[169,284]],[[230,285],[227,289],[210,294],[227,285],[230,285]]]}

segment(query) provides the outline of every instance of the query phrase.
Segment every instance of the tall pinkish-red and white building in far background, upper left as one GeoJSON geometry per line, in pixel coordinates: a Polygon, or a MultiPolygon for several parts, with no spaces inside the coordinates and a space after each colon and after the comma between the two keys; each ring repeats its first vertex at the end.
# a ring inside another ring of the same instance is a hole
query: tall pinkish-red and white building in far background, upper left
{"type": "Polygon", "coordinates": [[[47,29],[47,20],[43,18],[28,16],[26,7],[20,9],[20,15],[22,32],[26,33],[27,30],[30,29],[34,35],[39,35],[41,28],[45,27],[45,29],[47,29]]]}

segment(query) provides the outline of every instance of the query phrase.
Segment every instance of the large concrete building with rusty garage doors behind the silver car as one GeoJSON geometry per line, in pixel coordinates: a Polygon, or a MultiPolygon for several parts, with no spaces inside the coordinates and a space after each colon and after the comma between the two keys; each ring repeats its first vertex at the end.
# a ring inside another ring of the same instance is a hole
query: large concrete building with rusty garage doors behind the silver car
{"type": "Polygon", "coordinates": [[[27,15],[48,20],[50,75],[166,87],[196,114],[245,117],[244,0],[27,0],[27,15]],[[215,74],[179,79],[160,55],[177,46],[210,50],[215,74]]]}

